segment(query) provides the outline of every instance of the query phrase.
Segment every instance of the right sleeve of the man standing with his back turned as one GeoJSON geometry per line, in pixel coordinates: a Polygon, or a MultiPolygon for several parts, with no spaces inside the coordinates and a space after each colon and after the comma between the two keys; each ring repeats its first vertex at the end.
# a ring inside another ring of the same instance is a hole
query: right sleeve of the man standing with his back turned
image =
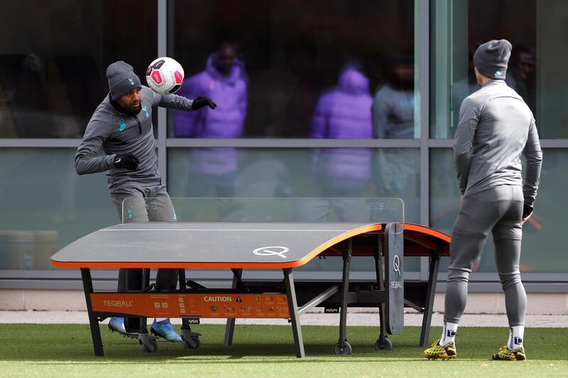
{"type": "Polygon", "coordinates": [[[527,158],[527,172],[523,182],[523,194],[525,204],[534,206],[537,196],[538,183],[540,181],[540,168],[542,166],[542,150],[540,150],[540,140],[538,139],[535,119],[532,118],[528,129],[527,144],[523,154],[527,158]]]}

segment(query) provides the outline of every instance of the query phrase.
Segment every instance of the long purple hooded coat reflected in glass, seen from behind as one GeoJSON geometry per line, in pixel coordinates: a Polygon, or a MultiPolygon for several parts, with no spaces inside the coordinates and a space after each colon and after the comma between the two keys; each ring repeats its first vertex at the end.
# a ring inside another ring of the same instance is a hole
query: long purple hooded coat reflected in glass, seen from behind
{"type": "MultiPolygon", "coordinates": [[[[312,138],[368,139],[373,137],[368,78],[353,65],[339,75],[339,83],[317,102],[312,138]]],[[[368,148],[321,148],[314,153],[315,175],[323,179],[324,196],[364,194],[371,169],[368,148]]]]}

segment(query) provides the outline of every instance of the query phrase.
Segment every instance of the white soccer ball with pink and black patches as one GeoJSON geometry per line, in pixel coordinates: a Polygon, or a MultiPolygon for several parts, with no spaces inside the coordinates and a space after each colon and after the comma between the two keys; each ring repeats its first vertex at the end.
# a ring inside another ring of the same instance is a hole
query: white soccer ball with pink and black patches
{"type": "Polygon", "coordinates": [[[158,94],[173,94],[182,87],[183,68],[170,57],[158,57],[146,70],[146,82],[158,94]]]}

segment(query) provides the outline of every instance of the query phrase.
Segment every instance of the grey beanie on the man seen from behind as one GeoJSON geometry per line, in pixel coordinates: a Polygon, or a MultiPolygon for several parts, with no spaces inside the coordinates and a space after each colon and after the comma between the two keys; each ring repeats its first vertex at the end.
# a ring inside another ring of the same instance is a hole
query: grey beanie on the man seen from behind
{"type": "Polygon", "coordinates": [[[504,80],[512,48],[508,40],[490,40],[477,48],[474,65],[480,74],[504,80]]]}

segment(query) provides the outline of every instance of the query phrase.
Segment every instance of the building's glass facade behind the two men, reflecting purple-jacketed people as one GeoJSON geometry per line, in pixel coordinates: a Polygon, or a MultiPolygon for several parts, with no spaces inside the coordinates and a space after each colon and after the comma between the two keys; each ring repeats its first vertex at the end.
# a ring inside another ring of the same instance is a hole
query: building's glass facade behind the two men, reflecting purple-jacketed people
{"type": "MultiPolygon", "coordinates": [[[[471,55],[485,40],[507,38],[508,84],[547,140],[535,216],[523,229],[522,269],[540,274],[535,280],[568,275],[561,218],[568,57],[559,38],[568,4],[423,4],[4,4],[10,22],[0,30],[11,38],[0,46],[0,270],[50,270],[53,251],[119,222],[104,174],[75,173],[75,148],[108,93],[107,65],[129,62],[144,83],[158,51],[182,63],[180,94],[207,94],[219,104],[181,117],[163,111],[159,124],[154,112],[160,170],[172,196],[400,197],[406,221],[450,233],[459,208],[451,140],[461,101],[476,90],[471,55]],[[428,18],[428,28],[420,28],[428,18]],[[427,73],[417,51],[424,46],[432,58],[430,83],[420,87],[427,73]],[[420,104],[430,119],[420,118],[420,104]]],[[[317,269],[339,267],[321,264],[317,269]]],[[[405,265],[421,269],[417,261],[405,265]]],[[[476,272],[495,272],[491,240],[476,272]]],[[[48,273],[58,277],[57,270],[48,273]]]]}

